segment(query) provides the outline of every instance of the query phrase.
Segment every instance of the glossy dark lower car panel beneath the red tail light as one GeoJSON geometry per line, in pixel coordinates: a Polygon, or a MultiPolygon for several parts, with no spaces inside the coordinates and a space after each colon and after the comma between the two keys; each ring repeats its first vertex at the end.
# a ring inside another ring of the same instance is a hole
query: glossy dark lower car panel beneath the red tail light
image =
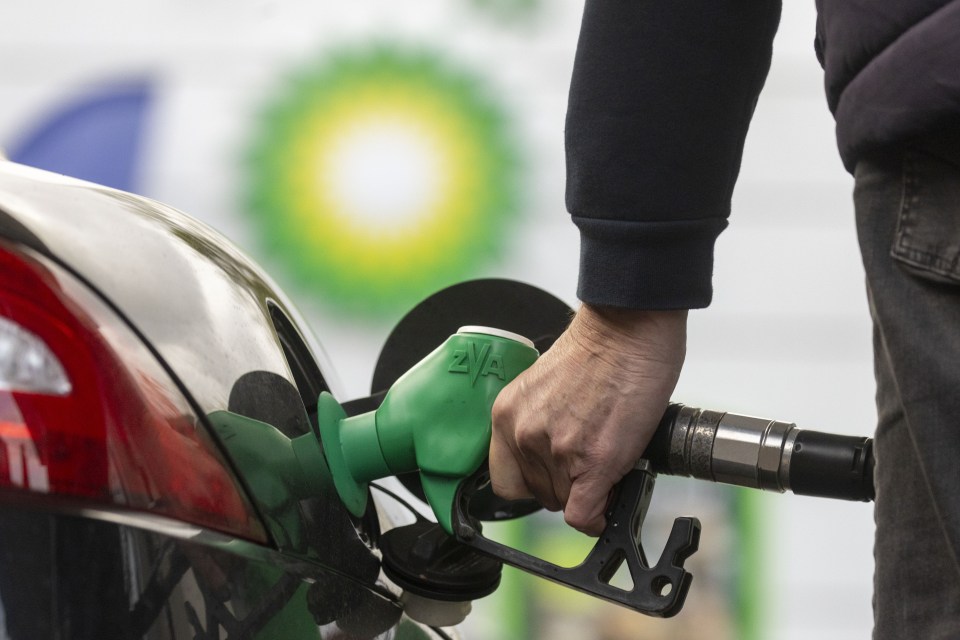
{"type": "Polygon", "coordinates": [[[251,543],[206,532],[185,540],[31,508],[0,509],[0,560],[13,640],[362,639],[396,629],[402,613],[382,584],[251,543]],[[50,603],[56,616],[47,615],[50,603]]]}

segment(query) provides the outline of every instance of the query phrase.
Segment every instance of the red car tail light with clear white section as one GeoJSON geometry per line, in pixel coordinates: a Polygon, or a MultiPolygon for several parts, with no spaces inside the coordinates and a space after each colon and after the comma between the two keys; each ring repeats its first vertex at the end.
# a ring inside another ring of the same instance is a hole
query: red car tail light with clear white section
{"type": "Polygon", "coordinates": [[[143,341],[66,270],[0,243],[0,490],[266,533],[143,341]]]}

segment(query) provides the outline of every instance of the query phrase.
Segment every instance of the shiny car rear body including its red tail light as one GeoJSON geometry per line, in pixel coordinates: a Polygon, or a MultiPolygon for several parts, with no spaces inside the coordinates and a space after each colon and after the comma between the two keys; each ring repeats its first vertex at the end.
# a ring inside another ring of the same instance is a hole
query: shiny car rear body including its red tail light
{"type": "Polygon", "coordinates": [[[236,464],[244,424],[310,432],[328,371],[216,232],[0,160],[0,636],[454,634],[401,615],[383,500],[355,518],[236,464]]]}

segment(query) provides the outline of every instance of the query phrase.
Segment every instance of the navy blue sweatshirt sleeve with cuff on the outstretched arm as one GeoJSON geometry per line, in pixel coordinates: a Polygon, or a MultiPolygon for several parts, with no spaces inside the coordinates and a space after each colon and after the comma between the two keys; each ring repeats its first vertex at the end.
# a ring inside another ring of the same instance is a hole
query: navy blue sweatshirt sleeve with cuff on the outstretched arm
{"type": "Polygon", "coordinates": [[[591,304],[710,303],[779,0],[587,0],[567,108],[567,209],[591,304]]]}

